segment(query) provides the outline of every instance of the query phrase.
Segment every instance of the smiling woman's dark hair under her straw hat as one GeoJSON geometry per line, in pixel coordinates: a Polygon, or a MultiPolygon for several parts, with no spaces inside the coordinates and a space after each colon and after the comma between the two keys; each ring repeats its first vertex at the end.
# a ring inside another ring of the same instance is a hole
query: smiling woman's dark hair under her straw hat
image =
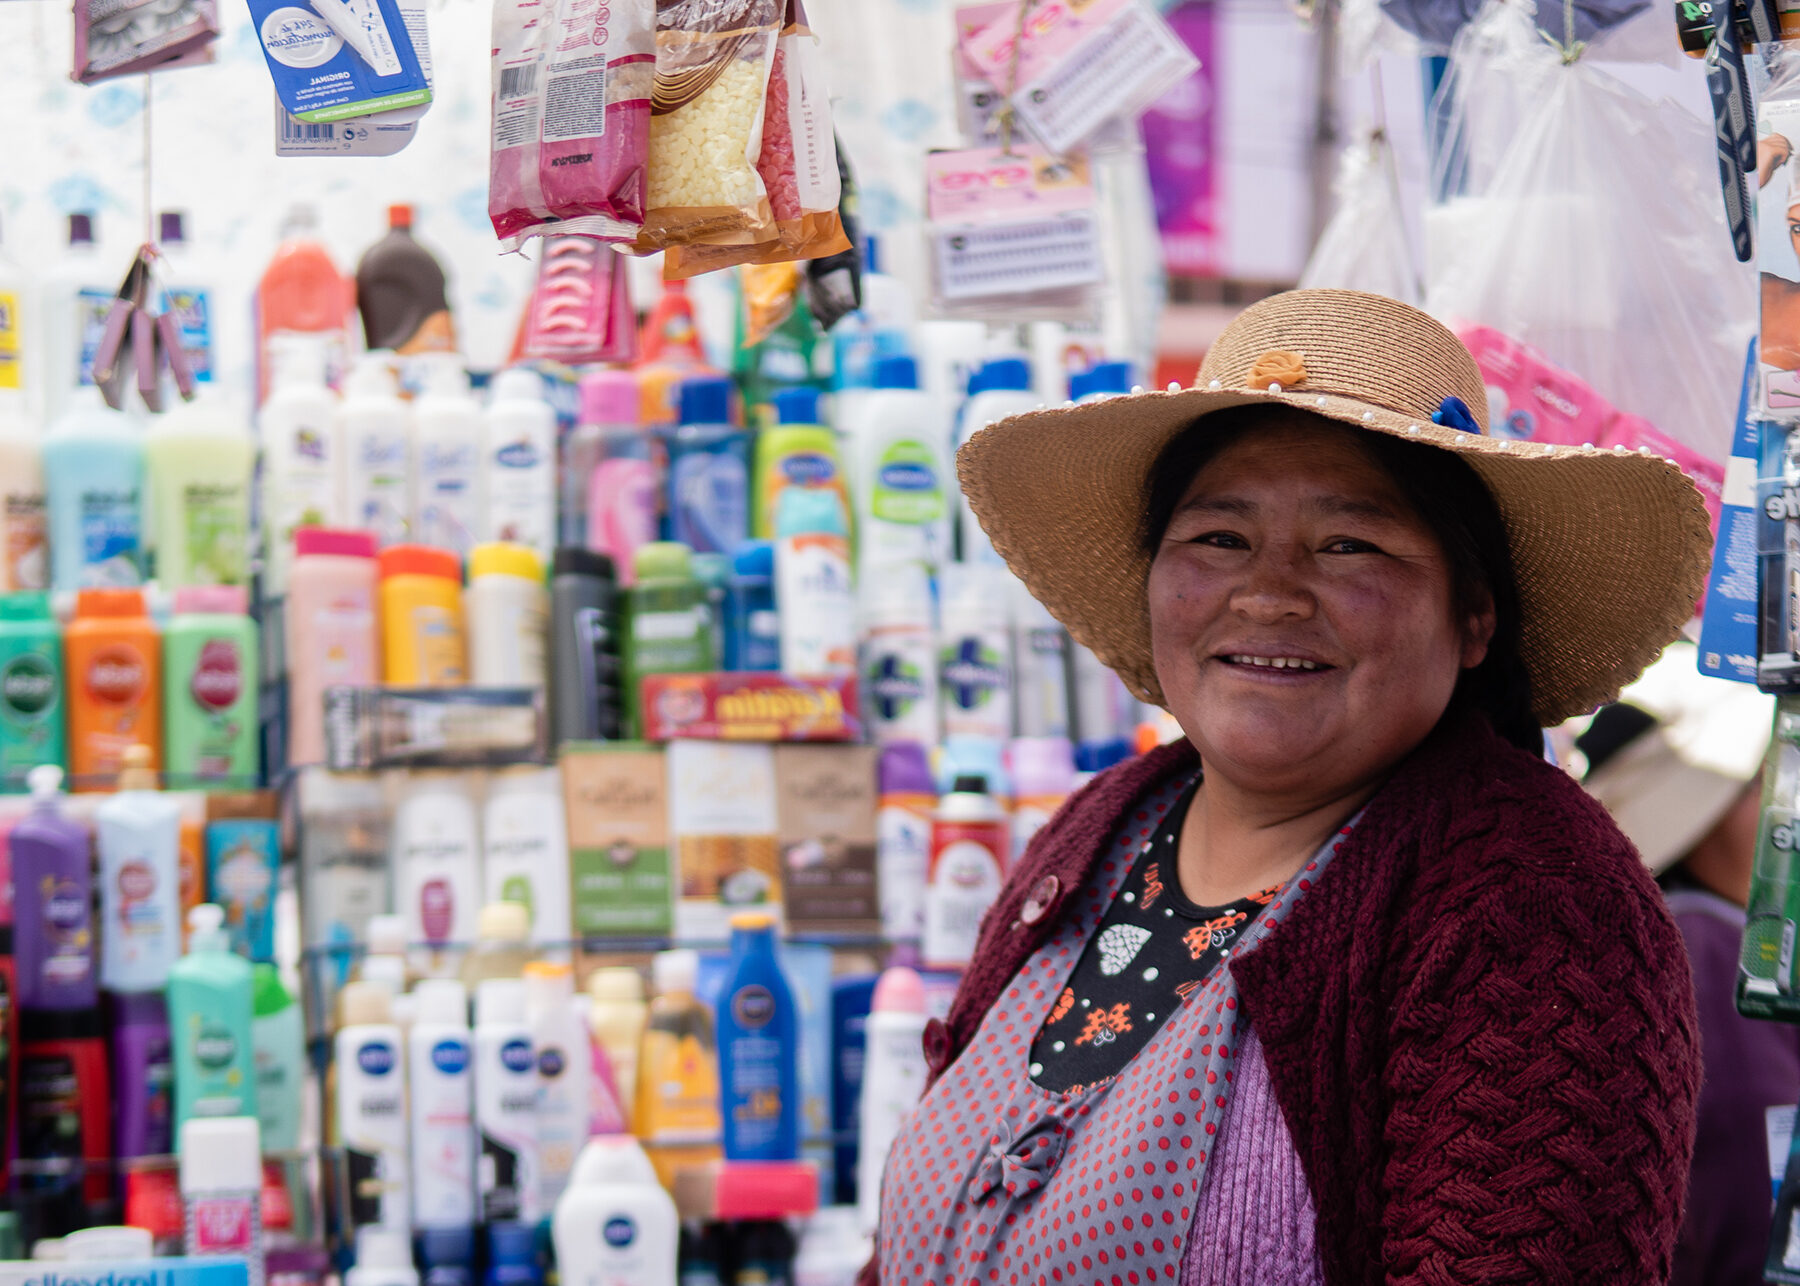
{"type": "Polygon", "coordinates": [[[1494,607],[1494,638],[1487,645],[1487,657],[1463,670],[1451,695],[1451,708],[1480,710],[1501,737],[1532,755],[1543,755],[1544,731],[1532,713],[1532,677],[1519,657],[1519,587],[1512,575],[1507,524],[1501,522],[1492,492],[1454,452],[1350,429],[1289,407],[1215,411],[1175,434],[1145,479],[1139,539],[1148,555],[1156,558],[1175,506],[1195,475],[1240,438],[1274,420],[1345,432],[1393,479],[1406,503],[1444,546],[1458,620],[1481,612],[1489,603],[1494,607]]]}

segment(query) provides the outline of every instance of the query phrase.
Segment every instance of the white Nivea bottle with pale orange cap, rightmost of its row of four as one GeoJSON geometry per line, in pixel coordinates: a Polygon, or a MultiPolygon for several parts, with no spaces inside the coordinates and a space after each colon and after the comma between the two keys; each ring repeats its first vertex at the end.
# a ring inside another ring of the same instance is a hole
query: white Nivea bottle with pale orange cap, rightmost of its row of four
{"type": "Polygon", "coordinates": [[[526,1021],[538,1061],[538,1209],[554,1210],[587,1142],[594,1073],[587,996],[574,994],[569,965],[549,960],[526,965],[526,1021]]]}

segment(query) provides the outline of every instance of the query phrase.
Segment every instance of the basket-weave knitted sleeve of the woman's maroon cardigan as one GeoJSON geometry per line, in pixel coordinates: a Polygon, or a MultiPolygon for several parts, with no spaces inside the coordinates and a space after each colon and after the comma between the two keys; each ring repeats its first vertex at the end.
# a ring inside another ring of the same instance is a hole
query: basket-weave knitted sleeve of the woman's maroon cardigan
{"type": "Polygon", "coordinates": [[[1579,870],[1501,848],[1402,947],[1388,1282],[1669,1279],[1699,1032],[1674,922],[1629,848],[1616,857],[1579,870]]]}

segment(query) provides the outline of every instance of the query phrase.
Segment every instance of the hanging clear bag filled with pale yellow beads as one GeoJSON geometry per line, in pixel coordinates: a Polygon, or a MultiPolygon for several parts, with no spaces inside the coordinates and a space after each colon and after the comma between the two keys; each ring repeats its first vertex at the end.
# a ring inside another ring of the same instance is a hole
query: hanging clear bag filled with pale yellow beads
{"type": "MultiPolygon", "coordinates": [[[[641,252],[756,232],[770,222],[756,173],[781,0],[661,0],[641,252]]],[[[749,240],[758,240],[751,236],[749,240]]]]}

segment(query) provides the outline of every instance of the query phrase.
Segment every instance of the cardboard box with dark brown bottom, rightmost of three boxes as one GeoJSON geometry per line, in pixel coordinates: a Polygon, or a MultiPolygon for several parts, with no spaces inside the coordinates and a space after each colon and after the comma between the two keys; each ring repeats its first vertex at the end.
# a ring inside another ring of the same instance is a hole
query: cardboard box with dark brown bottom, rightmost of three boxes
{"type": "Polygon", "coordinates": [[[882,928],[875,746],[776,746],[776,836],[788,931],[882,928]]]}

